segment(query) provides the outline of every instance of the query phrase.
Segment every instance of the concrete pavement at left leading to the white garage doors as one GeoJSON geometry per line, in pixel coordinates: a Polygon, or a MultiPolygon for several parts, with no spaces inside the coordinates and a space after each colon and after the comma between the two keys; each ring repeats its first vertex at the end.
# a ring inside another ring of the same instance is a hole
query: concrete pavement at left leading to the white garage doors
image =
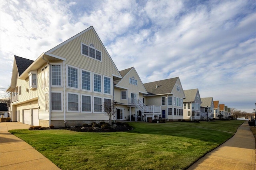
{"type": "Polygon", "coordinates": [[[60,170],[36,149],[8,132],[29,127],[18,122],[0,122],[0,170],[60,170]]]}

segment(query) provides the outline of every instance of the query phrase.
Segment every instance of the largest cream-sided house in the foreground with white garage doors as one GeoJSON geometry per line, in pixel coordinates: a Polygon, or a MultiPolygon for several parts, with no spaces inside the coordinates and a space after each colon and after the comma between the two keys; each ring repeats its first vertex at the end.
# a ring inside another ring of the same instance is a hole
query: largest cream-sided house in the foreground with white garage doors
{"type": "Polygon", "coordinates": [[[107,121],[102,104],[114,100],[122,79],[91,26],[36,61],[14,56],[11,119],[29,125],[64,127],[107,121]]]}

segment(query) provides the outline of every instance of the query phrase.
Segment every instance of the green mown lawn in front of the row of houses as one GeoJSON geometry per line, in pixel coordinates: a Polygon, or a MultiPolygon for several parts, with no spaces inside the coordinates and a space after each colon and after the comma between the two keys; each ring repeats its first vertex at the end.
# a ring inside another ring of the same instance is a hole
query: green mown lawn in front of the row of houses
{"type": "Polygon", "coordinates": [[[92,133],[68,130],[12,130],[62,170],[186,169],[232,137],[244,121],[202,123],[131,122],[133,131],[92,133]],[[210,124],[212,123],[212,124],[210,124]],[[227,124],[226,124],[227,123],[227,124]],[[199,125],[200,124],[200,125],[199,125]],[[225,128],[226,127],[226,128],[225,128]]]}

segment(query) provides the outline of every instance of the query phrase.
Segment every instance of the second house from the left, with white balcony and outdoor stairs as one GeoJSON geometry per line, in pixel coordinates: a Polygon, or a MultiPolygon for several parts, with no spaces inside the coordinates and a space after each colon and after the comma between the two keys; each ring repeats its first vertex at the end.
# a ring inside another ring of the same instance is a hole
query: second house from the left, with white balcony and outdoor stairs
{"type": "Polygon", "coordinates": [[[114,99],[117,110],[115,119],[130,121],[147,121],[159,118],[161,114],[160,106],[146,106],[143,95],[147,95],[138,73],[134,67],[120,71],[121,80],[114,81],[114,99]]]}

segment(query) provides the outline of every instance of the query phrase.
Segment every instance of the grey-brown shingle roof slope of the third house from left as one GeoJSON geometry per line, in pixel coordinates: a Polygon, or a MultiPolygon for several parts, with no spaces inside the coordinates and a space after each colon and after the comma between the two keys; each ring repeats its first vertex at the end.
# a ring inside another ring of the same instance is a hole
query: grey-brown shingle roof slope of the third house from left
{"type": "Polygon", "coordinates": [[[159,80],[155,82],[149,82],[143,84],[148,92],[148,96],[150,95],[159,95],[159,94],[170,94],[172,89],[174,88],[179,77],[169,78],[165,80],[159,80]],[[156,88],[157,84],[157,88],[156,88]]]}

